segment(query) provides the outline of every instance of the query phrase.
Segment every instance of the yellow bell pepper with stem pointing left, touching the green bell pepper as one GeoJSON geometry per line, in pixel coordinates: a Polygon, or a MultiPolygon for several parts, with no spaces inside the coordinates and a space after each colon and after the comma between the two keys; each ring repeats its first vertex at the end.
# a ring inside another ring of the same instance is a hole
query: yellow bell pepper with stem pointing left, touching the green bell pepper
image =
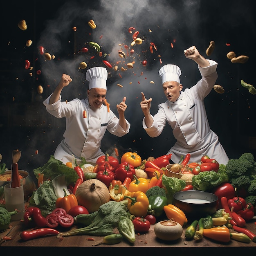
{"type": "Polygon", "coordinates": [[[145,193],[141,191],[133,192],[130,196],[125,195],[124,199],[128,199],[128,210],[135,217],[145,217],[148,213],[149,201],[145,193]]]}

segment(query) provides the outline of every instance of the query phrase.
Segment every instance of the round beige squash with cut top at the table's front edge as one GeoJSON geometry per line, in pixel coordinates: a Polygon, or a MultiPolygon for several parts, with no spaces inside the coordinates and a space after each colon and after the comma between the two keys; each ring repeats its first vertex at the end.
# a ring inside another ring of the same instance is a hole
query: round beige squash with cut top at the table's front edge
{"type": "Polygon", "coordinates": [[[154,231],[159,239],[173,241],[182,236],[183,227],[176,221],[164,220],[155,224],[154,231]]]}

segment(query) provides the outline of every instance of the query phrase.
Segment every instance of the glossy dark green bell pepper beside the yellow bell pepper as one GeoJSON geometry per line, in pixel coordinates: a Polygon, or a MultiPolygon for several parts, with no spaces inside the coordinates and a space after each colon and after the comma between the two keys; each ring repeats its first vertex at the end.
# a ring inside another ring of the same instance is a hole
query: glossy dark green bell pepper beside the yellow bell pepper
{"type": "Polygon", "coordinates": [[[164,206],[168,204],[168,199],[166,196],[162,195],[151,195],[148,198],[148,214],[151,214],[155,217],[159,217],[164,212],[164,206]]]}

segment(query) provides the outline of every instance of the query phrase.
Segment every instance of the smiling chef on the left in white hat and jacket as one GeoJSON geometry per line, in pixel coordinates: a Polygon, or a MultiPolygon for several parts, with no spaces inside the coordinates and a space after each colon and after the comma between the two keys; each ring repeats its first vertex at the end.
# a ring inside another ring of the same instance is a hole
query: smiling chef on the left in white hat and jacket
{"type": "Polygon", "coordinates": [[[125,119],[126,97],[117,104],[119,118],[104,105],[106,100],[108,72],[104,67],[92,67],[86,72],[89,82],[86,99],[61,101],[61,91],[70,85],[72,79],[63,74],[54,92],[43,102],[47,112],[57,118],[66,118],[64,139],[58,144],[54,157],[66,162],[74,162],[84,157],[88,163],[95,164],[101,155],[101,140],[108,132],[118,137],[129,132],[130,124],[125,119]]]}

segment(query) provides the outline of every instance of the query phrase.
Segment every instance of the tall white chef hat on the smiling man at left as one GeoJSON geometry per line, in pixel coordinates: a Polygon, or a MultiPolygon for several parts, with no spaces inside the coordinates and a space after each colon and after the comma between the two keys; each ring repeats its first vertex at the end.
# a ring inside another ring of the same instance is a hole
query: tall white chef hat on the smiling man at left
{"type": "Polygon", "coordinates": [[[102,88],[107,90],[108,71],[105,67],[92,67],[86,72],[86,80],[89,81],[89,90],[102,88]]]}

